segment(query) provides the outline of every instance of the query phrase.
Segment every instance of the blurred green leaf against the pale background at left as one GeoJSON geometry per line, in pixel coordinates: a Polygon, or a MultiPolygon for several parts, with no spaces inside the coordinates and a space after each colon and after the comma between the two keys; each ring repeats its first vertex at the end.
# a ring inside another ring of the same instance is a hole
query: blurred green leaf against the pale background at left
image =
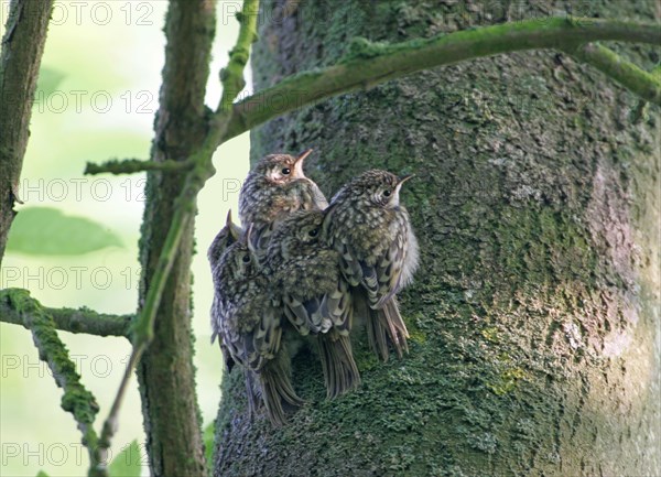
{"type": "Polygon", "coordinates": [[[122,247],[121,240],[101,224],[65,216],[51,207],[29,207],[14,219],[7,249],[33,256],[75,256],[111,246],[122,247]]]}

